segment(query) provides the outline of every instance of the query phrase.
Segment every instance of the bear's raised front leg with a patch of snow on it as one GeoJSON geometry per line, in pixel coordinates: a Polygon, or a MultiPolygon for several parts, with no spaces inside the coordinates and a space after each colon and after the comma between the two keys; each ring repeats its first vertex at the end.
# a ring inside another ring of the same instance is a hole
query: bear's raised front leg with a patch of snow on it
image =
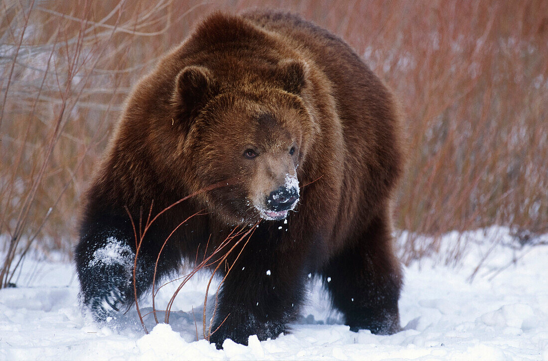
{"type": "MultiPolygon", "coordinates": [[[[162,244],[158,239],[164,238],[151,228],[140,245],[134,289],[136,240],[129,217],[88,215],[81,227],[75,261],[83,306],[96,322],[105,322],[110,317],[116,317],[118,312],[127,311],[135,302],[135,290],[139,297],[150,288],[159,245],[162,244]]],[[[162,257],[156,280],[179,264],[180,255],[172,245],[165,247],[164,253],[174,259],[165,261],[162,257]]]]}

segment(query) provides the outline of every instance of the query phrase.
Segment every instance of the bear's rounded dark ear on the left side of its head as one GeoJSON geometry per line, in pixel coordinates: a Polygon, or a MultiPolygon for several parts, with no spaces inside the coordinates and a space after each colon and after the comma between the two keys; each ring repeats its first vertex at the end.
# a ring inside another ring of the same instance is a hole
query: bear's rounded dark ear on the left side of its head
{"type": "Polygon", "coordinates": [[[215,96],[215,82],[208,68],[187,66],[175,80],[173,103],[181,114],[191,115],[203,108],[215,96]]]}

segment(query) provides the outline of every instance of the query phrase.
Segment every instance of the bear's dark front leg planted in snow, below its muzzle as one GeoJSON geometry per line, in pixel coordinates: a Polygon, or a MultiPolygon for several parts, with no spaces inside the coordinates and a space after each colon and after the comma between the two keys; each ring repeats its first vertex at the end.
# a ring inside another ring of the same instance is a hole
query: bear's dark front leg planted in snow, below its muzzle
{"type": "Polygon", "coordinates": [[[264,259],[240,260],[232,267],[210,330],[209,341],[217,348],[226,339],[247,345],[250,335],[264,341],[287,331],[302,301],[305,276],[302,265],[282,260],[276,265],[264,259]]]}

